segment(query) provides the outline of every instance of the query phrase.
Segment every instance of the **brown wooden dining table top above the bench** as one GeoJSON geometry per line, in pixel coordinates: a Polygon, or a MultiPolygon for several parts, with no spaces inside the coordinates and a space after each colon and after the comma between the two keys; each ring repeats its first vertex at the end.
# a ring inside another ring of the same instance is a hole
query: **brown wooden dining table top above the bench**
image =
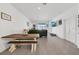
{"type": "Polygon", "coordinates": [[[38,38],[39,34],[10,34],[1,38],[38,38]]]}

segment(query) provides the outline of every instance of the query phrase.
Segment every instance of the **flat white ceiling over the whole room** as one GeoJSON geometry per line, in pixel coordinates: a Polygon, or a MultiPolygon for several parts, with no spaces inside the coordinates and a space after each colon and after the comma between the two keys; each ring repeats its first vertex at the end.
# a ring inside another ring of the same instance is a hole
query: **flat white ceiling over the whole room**
{"type": "Polygon", "coordinates": [[[33,23],[47,22],[51,18],[65,12],[75,6],[75,3],[12,3],[12,5],[22,12],[33,23]],[[40,9],[40,10],[39,10],[40,9]]]}

